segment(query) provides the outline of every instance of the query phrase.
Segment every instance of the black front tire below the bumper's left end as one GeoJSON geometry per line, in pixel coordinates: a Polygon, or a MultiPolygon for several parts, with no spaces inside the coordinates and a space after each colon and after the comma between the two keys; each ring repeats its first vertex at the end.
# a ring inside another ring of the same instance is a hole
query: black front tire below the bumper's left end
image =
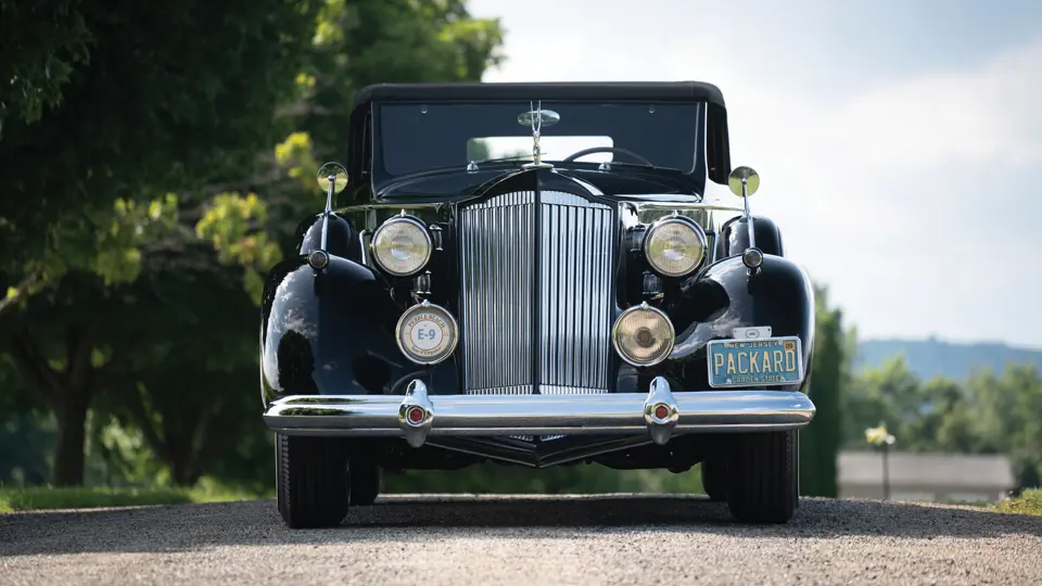
{"type": "Polygon", "coordinates": [[[332,437],[275,435],[279,513],[292,528],[334,527],[347,517],[347,449],[332,437]]]}

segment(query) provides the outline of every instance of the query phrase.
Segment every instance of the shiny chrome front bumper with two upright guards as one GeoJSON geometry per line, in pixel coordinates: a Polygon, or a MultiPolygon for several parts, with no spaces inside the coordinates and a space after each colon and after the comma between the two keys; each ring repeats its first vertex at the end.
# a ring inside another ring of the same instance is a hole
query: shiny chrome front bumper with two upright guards
{"type": "Polygon", "coordinates": [[[435,395],[415,380],[406,395],[294,395],[264,415],[284,435],[404,437],[428,435],[638,435],[665,444],[677,433],[779,431],[810,423],[815,407],[800,392],[687,391],[665,379],[647,395],[435,395]]]}

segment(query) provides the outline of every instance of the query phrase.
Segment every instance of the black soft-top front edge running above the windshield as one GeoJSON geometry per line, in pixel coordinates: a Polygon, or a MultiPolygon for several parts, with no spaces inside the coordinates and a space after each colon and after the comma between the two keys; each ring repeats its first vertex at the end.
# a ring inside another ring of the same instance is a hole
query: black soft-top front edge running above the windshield
{"type": "Polygon", "coordinates": [[[379,84],[358,91],[354,107],[373,100],[700,101],[725,107],[720,88],[702,81],[379,84]]]}

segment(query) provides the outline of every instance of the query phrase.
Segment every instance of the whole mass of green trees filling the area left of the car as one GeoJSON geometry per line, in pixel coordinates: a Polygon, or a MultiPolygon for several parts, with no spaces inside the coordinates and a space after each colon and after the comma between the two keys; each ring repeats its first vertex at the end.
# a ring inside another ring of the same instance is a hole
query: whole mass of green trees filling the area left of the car
{"type": "Polygon", "coordinates": [[[22,28],[0,75],[36,97],[3,94],[5,403],[56,418],[58,484],[84,477],[88,436],[125,472],[147,446],[163,470],[139,477],[256,476],[255,304],[317,211],[315,156],[345,158],[361,85],[480,79],[497,23],[434,0],[0,8],[22,28]]]}

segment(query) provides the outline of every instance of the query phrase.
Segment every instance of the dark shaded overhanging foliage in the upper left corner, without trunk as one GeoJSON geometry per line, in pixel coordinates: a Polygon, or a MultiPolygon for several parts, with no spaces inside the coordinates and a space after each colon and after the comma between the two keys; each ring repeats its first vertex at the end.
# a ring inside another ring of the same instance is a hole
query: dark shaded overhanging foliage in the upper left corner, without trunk
{"type": "Polygon", "coordinates": [[[250,168],[282,131],[274,113],[296,91],[317,10],[4,2],[0,74],[12,77],[0,79],[16,82],[0,91],[21,98],[0,137],[3,290],[39,290],[68,270],[119,275],[113,260],[126,250],[90,238],[107,229],[114,200],[162,199],[250,168]]]}

